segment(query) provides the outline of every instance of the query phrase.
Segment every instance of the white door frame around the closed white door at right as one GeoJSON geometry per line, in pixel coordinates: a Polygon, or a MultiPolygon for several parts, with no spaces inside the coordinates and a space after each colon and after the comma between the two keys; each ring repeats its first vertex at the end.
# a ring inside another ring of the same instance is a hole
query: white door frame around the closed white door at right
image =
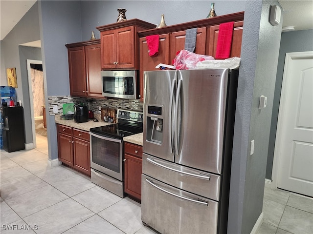
{"type": "Polygon", "coordinates": [[[287,74],[290,72],[290,64],[293,59],[301,59],[301,58],[308,58],[312,57],[312,51],[305,51],[305,52],[292,52],[286,53],[285,57],[285,66],[284,66],[284,73],[283,73],[283,83],[282,83],[282,90],[280,96],[280,103],[279,103],[279,112],[278,112],[278,121],[277,121],[277,129],[276,129],[276,139],[275,139],[275,147],[274,147],[274,158],[273,158],[273,168],[272,168],[272,182],[270,183],[271,189],[277,189],[277,180],[278,180],[278,170],[280,161],[283,160],[283,156],[280,154],[282,147],[282,134],[283,128],[282,119],[285,116],[286,106],[288,103],[286,102],[286,77],[287,74]]]}

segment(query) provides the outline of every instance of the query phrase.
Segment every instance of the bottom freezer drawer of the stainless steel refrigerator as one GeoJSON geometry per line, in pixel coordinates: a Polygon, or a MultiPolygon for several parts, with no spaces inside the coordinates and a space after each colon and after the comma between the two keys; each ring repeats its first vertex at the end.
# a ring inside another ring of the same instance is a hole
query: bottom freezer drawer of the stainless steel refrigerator
{"type": "Polygon", "coordinates": [[[142,174],[141,220],[162,234],[217,233],[219,203],[142,174]]]}

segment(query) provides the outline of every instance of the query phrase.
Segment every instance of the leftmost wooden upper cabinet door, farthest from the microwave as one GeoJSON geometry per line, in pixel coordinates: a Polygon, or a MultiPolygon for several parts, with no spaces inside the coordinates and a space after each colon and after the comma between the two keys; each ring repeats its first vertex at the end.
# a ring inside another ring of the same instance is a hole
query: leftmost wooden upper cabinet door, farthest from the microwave
{"type": "Polygon", "coordinates": [[[69,87],[71,96],[86,96],[85,47],[68,48],[69,87]]]}

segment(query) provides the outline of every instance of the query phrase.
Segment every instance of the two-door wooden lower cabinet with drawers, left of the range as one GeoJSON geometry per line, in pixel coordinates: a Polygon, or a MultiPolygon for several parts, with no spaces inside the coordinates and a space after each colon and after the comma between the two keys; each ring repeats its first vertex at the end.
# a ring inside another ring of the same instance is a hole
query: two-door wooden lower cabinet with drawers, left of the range
{"type": "Polygon", "coordinates": [[[59,160],[90,176],[89,133],[57,124],[57,137],[59,160]]]}

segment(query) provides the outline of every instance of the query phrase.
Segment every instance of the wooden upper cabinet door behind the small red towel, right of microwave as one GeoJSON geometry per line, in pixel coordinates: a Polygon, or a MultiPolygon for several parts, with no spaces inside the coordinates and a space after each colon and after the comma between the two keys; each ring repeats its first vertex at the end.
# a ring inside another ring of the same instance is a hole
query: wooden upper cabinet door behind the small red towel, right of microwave
{"type": "Polygon", "coordinates": [[[159,48],[157,56],[149,56],[146,38],[139,39],[139,66],[140,66],[140,101],[143,101],[144,77],[143,71],[154,71],[159,63],[169,64],[170,35],[159,35],[159,48]]]}

